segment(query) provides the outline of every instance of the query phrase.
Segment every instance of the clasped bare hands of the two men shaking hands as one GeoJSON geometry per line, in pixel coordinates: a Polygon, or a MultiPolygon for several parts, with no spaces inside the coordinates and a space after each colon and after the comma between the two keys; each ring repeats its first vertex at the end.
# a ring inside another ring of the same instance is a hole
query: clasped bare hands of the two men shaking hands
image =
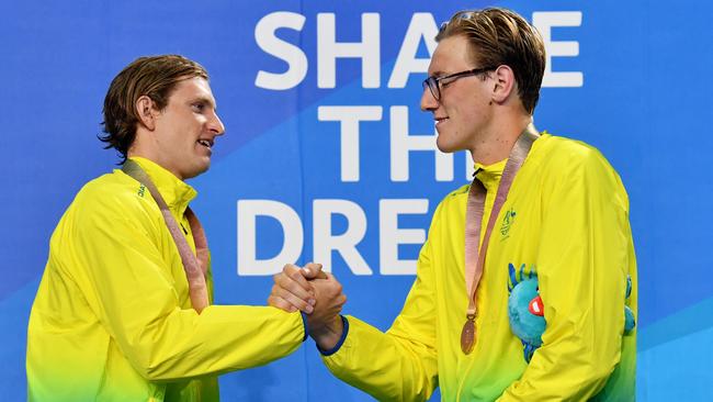
{"type": "Polygon", "coordinates": [[[287,264],[273,277],[268,304],[286,312],[297,310],[307,317],[307,331],[321,350],[332,349],[343,332],[339,313],[347,302],[342,287],[333,275],[322,272],[321,264],[303,268],[287,264]]]}

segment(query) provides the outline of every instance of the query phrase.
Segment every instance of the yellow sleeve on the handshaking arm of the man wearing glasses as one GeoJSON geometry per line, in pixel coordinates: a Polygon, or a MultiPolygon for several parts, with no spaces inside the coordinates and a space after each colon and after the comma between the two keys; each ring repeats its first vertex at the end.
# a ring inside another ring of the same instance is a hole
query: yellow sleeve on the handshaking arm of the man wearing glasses
{"type": "Polygon", "coordinates": [[[438,386],[435,300],[430,246],[421,248],[417,278],[388,332],[349,316],[339,350],[322,356],[342,381],[380,401],[426,401],[438,386]]]}

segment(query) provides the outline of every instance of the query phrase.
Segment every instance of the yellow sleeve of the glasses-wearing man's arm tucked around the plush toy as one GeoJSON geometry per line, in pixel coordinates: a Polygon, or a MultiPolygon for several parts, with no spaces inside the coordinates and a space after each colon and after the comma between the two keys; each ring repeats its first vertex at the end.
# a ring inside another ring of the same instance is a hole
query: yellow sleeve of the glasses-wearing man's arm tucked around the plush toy
{"type": "Polygon", "coordinates": [[[502,402],[588,400],[621,358],[626,275],[635,265],[627,197],[596,150],[561,176],[543,188],[543,345],[502,402]]]}

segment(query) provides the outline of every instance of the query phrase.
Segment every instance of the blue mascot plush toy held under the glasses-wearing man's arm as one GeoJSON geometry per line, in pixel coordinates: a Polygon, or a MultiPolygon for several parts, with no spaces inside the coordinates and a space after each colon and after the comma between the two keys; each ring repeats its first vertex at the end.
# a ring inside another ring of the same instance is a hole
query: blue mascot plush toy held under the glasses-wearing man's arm
{"type": "MultiPolygon", "coordinates": [[[[530,362],[534,351],[542,345],[542,334],[545,332],[544,304],[540,298],[537,272],[534,266],[529,269],[524,264],[516,271],[512,264],[508,267],[508,316],[512,333],[520,338],[524,347],[524,359],[530,362]]],[[[632,280],[626,278],[626,299],[631,295],[632,280]]],[[[624,305],[624,334],[630,333],[636,321],[632,310],[624,305]]]]}

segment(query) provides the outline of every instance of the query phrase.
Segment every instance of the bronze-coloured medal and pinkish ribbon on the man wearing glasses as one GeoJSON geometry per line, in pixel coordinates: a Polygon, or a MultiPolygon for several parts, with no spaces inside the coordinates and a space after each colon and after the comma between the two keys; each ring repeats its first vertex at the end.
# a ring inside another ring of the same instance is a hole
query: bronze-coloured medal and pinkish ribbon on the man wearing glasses
{"type": "Polygon", "coordinates": [[[480,277],[483,276],[483,267],[485,266],[485,255],[488,249],[488,241],[490,233],[495,226],[495,221],[508,198],[510,186],[514,180],[518,170],[524,163],[532,143],[540,137],[532,124],[529,124],[518,137],[510,156],[505,165],[498,192],[490,211],[490,217],[483,235],[483,247],[479,247],[480,241],[480,226],[483,224],[483,214],[485,210],[486,189],[483,183],[473,178],[471,189],[468,191],[468,200],[465,211],[465,288],[468,294],[468,309],[465,314],[465,323],[461,331],[461,350],[468,355],[473,351],[477,342],[477,327],[475,320],[477,319],[476,311],[476,291],[480,277]]]}

